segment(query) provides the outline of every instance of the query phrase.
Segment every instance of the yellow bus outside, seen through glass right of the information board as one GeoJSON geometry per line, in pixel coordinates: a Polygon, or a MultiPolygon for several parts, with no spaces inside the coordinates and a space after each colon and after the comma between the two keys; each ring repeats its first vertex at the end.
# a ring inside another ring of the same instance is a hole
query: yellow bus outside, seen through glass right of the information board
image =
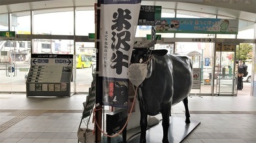
{"type": "Polygon", "coordinates": [[[80,53],[76,55],[76,68],[90,68],[92,66],[92,55],[80,53]]]}

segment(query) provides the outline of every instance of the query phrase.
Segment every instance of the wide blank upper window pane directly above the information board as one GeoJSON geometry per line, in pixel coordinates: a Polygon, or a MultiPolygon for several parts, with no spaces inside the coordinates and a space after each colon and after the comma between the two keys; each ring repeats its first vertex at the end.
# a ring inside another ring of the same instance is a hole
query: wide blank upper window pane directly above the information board
{"type": "Polygon", "coordinates": [[[44,13],[35,11],[34,33],[33,34],[74,34],[74,13],[73,11],[44,13]],[[40,13],[40,14],[36,14],[40,13]]]}

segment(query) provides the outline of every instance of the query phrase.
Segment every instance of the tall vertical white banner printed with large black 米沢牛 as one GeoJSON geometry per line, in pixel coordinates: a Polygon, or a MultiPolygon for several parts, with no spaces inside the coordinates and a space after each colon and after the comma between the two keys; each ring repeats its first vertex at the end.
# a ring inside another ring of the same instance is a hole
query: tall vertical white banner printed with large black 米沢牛
{"type": "Polygon", "coordinates": [[[141,0],[101,1],[99,76],[103,79],[104,105],[127,109],[127,72],[140,3],[141,0]]]}

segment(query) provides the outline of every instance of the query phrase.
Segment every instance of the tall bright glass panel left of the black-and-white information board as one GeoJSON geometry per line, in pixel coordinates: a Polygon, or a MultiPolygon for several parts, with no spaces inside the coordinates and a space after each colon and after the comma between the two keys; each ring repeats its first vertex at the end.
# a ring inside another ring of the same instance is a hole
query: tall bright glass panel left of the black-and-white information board
{"type": "Polygon", "coordinates": [[[26,92],[29,70],[29,41],[0,41],[0,92],[26,92]]]}

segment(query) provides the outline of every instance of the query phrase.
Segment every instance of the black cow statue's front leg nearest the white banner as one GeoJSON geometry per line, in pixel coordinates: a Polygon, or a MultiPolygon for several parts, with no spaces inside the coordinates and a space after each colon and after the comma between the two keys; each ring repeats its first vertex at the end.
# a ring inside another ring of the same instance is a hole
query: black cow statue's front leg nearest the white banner
{"type": "Polygon", "coordinates": [[[146,131],[148,126],[147,113],[140,104],[140,143],[146,143],[146,131]]]}

